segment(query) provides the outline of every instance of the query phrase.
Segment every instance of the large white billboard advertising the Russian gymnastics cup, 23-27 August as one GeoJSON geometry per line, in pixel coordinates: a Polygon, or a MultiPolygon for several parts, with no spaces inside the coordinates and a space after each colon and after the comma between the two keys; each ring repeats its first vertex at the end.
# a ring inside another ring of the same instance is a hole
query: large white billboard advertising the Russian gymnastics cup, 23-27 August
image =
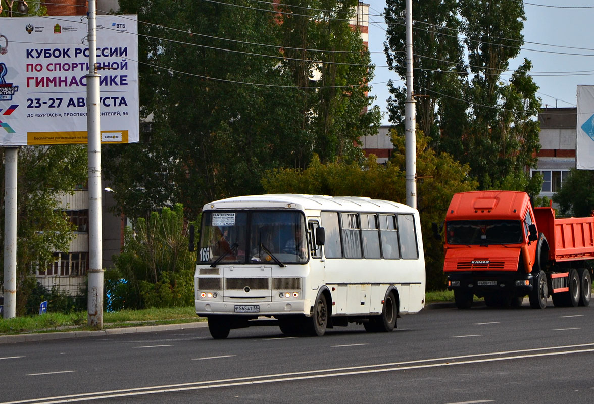
{"type": "MultiPolygon", "coordinates": [[[[0,146],[87,143],[87,18],[2,18],[0,146]]],[[[138,141],[138,21],[97,16],[102,143],[138,141]]]]}

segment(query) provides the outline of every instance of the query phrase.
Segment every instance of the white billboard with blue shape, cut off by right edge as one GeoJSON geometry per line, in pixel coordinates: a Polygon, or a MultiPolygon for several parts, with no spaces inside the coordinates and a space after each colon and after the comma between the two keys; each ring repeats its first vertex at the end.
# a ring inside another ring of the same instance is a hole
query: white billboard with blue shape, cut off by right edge
{"type": "Polygon", "coordinates": [[[594,86],[577,86],[576,168],[594,170],[594,86]]]}

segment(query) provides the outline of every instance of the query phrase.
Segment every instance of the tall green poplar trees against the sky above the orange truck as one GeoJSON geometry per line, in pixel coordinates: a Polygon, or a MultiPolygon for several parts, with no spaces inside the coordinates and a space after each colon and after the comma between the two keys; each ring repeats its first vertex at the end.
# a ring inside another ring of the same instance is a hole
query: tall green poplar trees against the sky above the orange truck
{"type": "MultiPolygon", "coordinates": [[[[396,57],[402,55],[405,40],[399,17],[403,3],[388,0],[386,7],[388,62],[399,64],[402,58],[396,57]]],[[[540,147],[538,122],[532,118],[541,102],[528,74],[532,64],[525,59],[509,81],[501,77],[523,45],[523,4],[462,0],[445,9],[444,4],[422,0],[413,7],[413,50],[418,55],[414,85],[415,94],[422,95],[417,102],[421,128],[431,135],[436,150],[467,163],[482,189],[525,185],[525,191],[538,190],[540,179],[526,172],[535,167],[534,152],[540,147]],[[467,62],[461,61],[462,55],[467,62]]],[[[404,77],[403,67],[396,71],[404,77]]],[[[394,89],[393,122],[402,122],[402,100],[402,91],[394,89]]]]}

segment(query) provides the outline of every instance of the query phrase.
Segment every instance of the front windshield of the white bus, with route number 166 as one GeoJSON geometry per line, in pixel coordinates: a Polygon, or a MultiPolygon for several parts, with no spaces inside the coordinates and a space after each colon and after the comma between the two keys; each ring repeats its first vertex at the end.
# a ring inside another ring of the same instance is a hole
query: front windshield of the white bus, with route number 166
{"type": "Polygon", "coordinates": [[[220,263],[305,263],[305,217],[299,211],[203,212],[198,261],[220,263]]]}

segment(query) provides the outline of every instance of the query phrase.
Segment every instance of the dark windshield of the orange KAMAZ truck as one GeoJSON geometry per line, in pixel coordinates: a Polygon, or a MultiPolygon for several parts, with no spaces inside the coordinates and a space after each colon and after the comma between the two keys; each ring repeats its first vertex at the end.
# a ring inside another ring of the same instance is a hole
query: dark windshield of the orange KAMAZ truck
{"type": "Polygon", "coordinates": [[[518,244],[520,220],[452,220],[446,223],[448,244],[518,244]]]}

